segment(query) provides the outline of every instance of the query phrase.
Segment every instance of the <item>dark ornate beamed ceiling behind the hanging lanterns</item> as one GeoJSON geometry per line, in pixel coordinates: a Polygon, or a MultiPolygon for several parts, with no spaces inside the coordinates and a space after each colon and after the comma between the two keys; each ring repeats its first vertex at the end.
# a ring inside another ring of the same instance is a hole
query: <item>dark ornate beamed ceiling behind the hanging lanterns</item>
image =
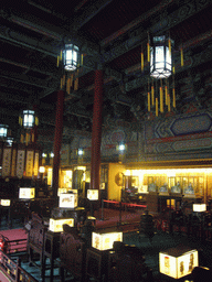
{"type": "Polygon", "coordinates": [[[36,107],[40,134],[53,134],[61,77],[56,59],[68,40],[80,46],[84,65],[78,90],[65,96],[64,141],[76,132],[92,131],[94,75],[99,62],[104,69],[103,128],[117,119],[139,124],[149,117],[146,62],[145,72],[140,70],[141,45],[146,46],[148,33],[168,32],[174,41],[176,112],[191,101],[199,108],[210,107],[211,12],[210,0],[2,1],[0,123],[8,123],[15,134],[19,112],[36,107]]]}

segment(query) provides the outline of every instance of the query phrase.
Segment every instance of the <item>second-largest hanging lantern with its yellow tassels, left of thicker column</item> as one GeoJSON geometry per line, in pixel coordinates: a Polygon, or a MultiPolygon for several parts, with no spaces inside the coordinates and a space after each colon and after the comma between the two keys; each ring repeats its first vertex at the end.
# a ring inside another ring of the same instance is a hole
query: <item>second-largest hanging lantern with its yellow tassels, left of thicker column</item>
{"type": "Polygon", "coordinates": [[[57,56],[57,67],[62,66],[61,89],[66,85],[67,94],[72,89],[78,90],[80,67],[83,65],[83,54],[78,46],[65,44],[57,56]]]}

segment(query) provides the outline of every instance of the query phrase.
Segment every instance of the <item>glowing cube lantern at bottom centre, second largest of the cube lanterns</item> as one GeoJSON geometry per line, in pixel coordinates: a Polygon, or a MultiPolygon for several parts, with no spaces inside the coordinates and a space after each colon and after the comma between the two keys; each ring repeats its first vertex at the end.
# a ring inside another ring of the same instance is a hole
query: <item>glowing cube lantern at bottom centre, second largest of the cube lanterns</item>
{"type": "Polygon", "coordinates": [[[115,241],[123,241],[123,232],[92,232],[92,247],[100,251],[113,249],[115,241]]]}

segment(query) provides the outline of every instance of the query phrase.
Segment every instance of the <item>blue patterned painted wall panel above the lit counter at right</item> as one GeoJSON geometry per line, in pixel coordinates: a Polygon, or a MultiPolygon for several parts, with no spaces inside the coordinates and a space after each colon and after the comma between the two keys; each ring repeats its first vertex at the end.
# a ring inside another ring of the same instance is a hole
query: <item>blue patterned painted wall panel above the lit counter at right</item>
{"type": "MultiPolygon", "coordinates": [[[[192,112],[156,121],[145,127],[146,154],[177,152],[177,159],[184,159],[180,153],[212,148],[212,112],[192,112]]],[[[204,153],[200,155],[205,158],[204,153]]],[[[158,158],[166,160],[165,156],[158,158]]]]}

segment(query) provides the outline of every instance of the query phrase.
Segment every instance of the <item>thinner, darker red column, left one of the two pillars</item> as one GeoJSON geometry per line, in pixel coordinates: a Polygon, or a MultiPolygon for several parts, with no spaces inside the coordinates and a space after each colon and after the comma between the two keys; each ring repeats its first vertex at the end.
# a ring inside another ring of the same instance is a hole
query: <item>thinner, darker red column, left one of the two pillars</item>
{"type": "Polygon", "coordinates": [[[63,104],[64,91],[59,90],[57,104],[56,104],[56,119],[55,119],[55,132],[54,132],[54,160],[53,160],[53,197],[57,196],[59,188],[59,169],[61,161],[61,143],[63,137],[63,104]]]}

